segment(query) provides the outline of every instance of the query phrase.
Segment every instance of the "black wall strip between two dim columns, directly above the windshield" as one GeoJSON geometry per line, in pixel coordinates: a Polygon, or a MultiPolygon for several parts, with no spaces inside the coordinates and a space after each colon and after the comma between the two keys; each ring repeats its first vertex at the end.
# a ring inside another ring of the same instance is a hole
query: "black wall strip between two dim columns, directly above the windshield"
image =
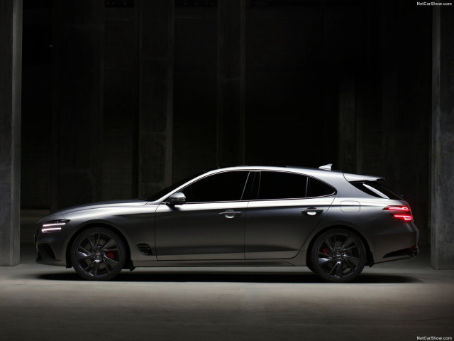
{"type": "Polygon", "coordinates": [[[217,14],[175,7],[174,180],[216,166],[217,14]]]}

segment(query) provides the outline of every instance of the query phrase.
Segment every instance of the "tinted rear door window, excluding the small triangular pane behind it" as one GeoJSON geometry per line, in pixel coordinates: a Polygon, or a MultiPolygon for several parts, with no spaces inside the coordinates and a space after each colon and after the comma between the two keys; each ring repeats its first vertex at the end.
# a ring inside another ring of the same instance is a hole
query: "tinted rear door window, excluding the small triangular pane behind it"
{"type": "Polygon", "coordinates": [[[304,175],[262,172],[260,176],[259,199],[292,199],[306,195],[306,181],[304,175]]]}

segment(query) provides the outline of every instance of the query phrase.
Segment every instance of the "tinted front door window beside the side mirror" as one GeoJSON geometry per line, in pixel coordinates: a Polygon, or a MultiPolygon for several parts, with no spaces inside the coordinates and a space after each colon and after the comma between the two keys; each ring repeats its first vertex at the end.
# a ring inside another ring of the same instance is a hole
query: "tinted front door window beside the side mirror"
{"type": "Polygon", "coordinates": [[[237,201],[243,195],[247,171],[210,175],[184,188],[186,202],[237,201]]]}

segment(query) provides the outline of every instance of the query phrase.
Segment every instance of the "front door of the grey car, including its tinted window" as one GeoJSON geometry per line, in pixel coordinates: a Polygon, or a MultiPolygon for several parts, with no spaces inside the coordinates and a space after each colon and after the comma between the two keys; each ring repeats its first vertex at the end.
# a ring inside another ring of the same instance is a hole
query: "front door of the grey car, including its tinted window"
{"type": "Polygon", "coordinates": [[[248,173],[209,175],[180,190],[186,204],[157,207],[157,260],[244,259],[248,173]]]}

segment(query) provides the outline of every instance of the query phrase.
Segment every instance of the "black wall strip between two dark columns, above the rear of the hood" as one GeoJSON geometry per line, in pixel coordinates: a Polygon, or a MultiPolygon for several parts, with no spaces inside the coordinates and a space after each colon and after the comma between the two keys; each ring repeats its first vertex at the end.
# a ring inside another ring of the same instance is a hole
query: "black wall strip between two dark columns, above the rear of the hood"
{"type": "Polygon", "coordinates": [[[138,195],[138,8],[104,11],[101,199],[138,195]]]}

